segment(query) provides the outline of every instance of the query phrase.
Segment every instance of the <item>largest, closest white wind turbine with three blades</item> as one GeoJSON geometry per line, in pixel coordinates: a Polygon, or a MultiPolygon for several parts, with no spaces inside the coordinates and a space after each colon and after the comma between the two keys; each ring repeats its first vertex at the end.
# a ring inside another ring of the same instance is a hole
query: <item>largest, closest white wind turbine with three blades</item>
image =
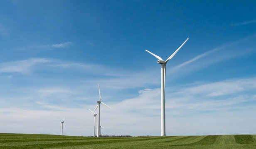
{"type": "MultiPolygon", "coordinates": [[[[188,40],[188,38],[187,38],[188,40]]],[[[187,40],[185,42],[187,42],[187,40]]],[[[161,64],[161,136],[165,135],[165,69],[166,69],[166,63],[180,50],[180,48],[185,44],[182,43],[182,45],[169,57],[167,60],[162,60],[160,56],[155,55],[154,53],[149,52],[158,59],[158,64],[161,64]]]]}

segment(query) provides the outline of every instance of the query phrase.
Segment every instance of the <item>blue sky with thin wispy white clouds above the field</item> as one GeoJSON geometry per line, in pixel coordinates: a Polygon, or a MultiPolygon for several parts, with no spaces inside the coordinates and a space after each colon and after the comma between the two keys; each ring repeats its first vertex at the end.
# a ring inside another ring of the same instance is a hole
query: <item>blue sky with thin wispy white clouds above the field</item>
{"type": "Polygon", "coordinates": [[[98,85],[103,134],[256,134],[254,0],[0,1],[0,132],[93,135],[98,85]]]}

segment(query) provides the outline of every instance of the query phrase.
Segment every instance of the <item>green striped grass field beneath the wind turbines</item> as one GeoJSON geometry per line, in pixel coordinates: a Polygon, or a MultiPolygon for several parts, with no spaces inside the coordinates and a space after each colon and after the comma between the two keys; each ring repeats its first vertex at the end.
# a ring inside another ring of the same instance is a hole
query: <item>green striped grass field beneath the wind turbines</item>
{"type": "Polygon", "coordinates": [[[74,137],[0,134],[0,149],[256,149],[256,135],[74,137]]]}

